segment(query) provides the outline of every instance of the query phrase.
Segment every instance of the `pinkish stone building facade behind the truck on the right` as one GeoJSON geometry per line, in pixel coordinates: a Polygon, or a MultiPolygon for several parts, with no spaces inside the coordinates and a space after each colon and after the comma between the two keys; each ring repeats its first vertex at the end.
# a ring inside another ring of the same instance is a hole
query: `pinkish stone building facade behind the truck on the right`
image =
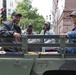
{"type": "MultiPolygon", "coordinates": [[[[53,0],[55,1],[55,0],[53,0]]],[[[55,13],[54,31],[56,34],[66,34],[73,28],[70,13],[76,10],[75,0],[57,0],[57,8],[55,13]]],[[[54,4],[53,4],[54,5],[54,4]]]]}

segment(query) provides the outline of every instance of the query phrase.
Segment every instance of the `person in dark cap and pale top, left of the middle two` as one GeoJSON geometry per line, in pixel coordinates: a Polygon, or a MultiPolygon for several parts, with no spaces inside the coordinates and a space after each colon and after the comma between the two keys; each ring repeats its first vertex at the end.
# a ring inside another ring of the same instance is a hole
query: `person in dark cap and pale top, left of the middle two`
{"type": "MultiPolygon", "coordinates": [[[[38,35],[34,30],[33,30],[33,24],[28,23],[27,28],[22,30],[23,35],[38,35]]],[[[28,39],[28,43],[39,43],[39,39],[28,39]]],[[[28,51],[34,51],[38,52],[39,48],[28,48],[28,51]]]]}

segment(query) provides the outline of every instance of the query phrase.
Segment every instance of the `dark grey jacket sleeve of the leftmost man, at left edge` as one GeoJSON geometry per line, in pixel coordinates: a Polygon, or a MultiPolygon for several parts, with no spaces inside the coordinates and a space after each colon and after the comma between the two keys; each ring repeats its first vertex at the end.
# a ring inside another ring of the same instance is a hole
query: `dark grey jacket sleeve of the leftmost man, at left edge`
{"type": "Polygon", "coordinates": [[[13,36],[13,33],[14,31],[11,31],[8,25],[3,24],[0,28],[0,35],[2,36],[13,36]]]}

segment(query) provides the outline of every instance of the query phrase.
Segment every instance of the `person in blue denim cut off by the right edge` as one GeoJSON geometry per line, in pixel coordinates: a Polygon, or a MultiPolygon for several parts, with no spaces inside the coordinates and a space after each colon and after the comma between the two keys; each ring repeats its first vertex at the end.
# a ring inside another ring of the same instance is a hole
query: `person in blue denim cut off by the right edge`
{"type": "MultiPolygon", "coordinates": [[[[73,11],[70,14],[70,17],[73,21],[73,26],[74,28],[71,31],[68,31],[66,33],[67,37],[69,37],[70,39],[68,40],[69,43],[76,43],[76,39],[73,39],[72,37],[76,37],[76,11],[73,11]]],[[[58,50],[58,52],[60,52],[60,49],[58,50]]],[[[67,54],[74,54],[76,53],[76,47],[66,47],[65,48],[65,53],[67,54]]]]}

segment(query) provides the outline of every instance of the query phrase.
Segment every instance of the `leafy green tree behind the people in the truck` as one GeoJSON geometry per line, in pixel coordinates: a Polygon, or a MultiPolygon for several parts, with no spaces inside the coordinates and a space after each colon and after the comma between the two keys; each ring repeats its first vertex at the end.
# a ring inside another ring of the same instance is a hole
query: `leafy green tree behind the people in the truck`
{"type": "Polygon", "coordinates": [[[18,3],[16,11],[20,12],[23,15],[20,20],[21,28],[23,28],[24,25],[26,27],[26,25],[31,22],[33,24],[33,29],[37,33],[40,33],[45,19],[42,15],[39,15],[37,13],[37,8],[32,7],[31,0],[23,0],[22,2],[18,3]]]}

